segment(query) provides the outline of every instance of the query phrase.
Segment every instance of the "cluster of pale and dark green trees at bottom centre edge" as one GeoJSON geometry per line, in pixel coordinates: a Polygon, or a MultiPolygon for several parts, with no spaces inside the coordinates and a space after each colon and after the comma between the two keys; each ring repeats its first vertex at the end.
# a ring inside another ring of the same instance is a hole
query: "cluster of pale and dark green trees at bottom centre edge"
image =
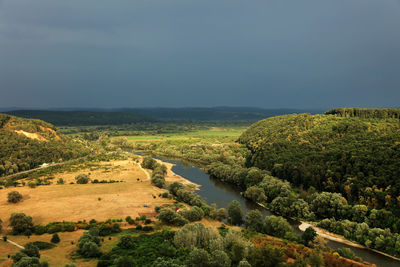
{"type": "Polygon", "coordinates": [[[254,246],[240,232],[218,232],[201,223],[173,232],[122,236],[98,266],[279,266],[284,262],[279,248],[254,246]],[[118,265],[122,262],[125,265],[118,265]]]}

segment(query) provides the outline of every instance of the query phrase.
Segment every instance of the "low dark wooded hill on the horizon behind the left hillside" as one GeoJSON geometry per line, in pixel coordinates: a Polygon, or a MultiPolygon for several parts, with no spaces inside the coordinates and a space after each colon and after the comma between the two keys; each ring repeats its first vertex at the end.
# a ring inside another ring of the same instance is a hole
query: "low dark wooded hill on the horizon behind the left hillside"
{"type": "Polygon", "coordinates": [[[68,126],[121,125],[154,121],[147,116],[129,112],[14,110],[7,112],[7,114],[23,118],[40,119],[54,125],[68,126]]]}

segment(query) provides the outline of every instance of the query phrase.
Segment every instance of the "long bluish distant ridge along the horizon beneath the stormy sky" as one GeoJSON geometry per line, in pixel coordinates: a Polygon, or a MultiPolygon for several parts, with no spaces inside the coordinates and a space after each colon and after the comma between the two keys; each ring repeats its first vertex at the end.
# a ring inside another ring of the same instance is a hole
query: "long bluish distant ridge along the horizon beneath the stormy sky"
{"type": "Polygon", "coordinates": [[[322,113],[323,110],[262,109],[251,107],[187,108],[117,108],[117,109],[51,109],[12,110],[10,115],[36,118],[55,125],[118,125],[163,121],[257,121],[293,113],[322,113]]]}

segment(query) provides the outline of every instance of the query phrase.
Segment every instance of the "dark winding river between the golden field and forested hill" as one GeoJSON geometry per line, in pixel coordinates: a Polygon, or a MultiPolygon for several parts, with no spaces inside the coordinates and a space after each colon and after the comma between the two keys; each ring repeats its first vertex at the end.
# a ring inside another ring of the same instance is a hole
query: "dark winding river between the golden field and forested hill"
{"type": "MultiPolygon", "coordinates": [[[[200,190],[196,191],[204,200],[211,205],[212,203],[216,203],[218,207],[227,208],[229,203],[232,200],[237,200],[243,208],[244,214],[253,209],[258,209],[265,216],[270,216],[272,213],[256,203],[245,199],[241,194],[238,188],[232,186],[228,183],[221,182],[217,179],[210,178],[210,176],[200,169],[199,167],[192,165],[192,163],[184,164],[180,160],[169,159],[166,157],[154,157],[160,159],[165,162],[170,162],[175,164],[172,167],[172,171],[187,180],[194,182],[198,185],[201,185],[200,190]]],[[[298,229],[299,222],[291,221],[290,222],[296,233],[300,233],[298,229]]],[[[368,249],[363,248],[355,248],[345,244],[341,244],[338,242],[334,242],[331,240],[327,240],[327,246],[332,249],[337,249],[340,247],[350,248],[358,257],[361,257],[365,261],[370,263],[374,263],[377,266],[384,267],[399,267],[400,262],[395,259],[386,257],[384,255],[375,253],[368,249]]]]}

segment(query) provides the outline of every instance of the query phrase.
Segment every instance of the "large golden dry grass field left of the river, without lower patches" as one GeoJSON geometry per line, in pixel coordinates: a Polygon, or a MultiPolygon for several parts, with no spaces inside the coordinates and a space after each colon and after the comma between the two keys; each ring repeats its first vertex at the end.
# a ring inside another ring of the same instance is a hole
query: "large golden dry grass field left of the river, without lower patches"
{"type": "MultiPolygon", "coordinates": [[[[56,175],[52,185],[36,188],[12,187],[1,190],[0,218],[4,222],[3,225],[8,224],[8,219],[13,212],[24,212],[32,216],[35,224],[91,219],[104,221],[110,218],[123,219],[128,215],[135,218],[139,213],[153,212],[157,205],[172,203],[172,200],[158,196],[165,190],[151,185],[150,180],[135,161],[111,161],[103,162],[101,165],[104,168],[60,173],[56,175]],[[75,182],[75,176],[81,173],[90,173],[89,177],[92,180],[113,179],[123,182],[69,184],[75,182]],[[55,184],[59,178],[64,179],[65,184],[55,184]],[[8,203],[7,194],[14,190],[23,195],[23,200],[16,204],[8,203]]],[[[170,170],[166,180],[167,182],[186,181],[182,177],[173,176],[170,170]]]]}

